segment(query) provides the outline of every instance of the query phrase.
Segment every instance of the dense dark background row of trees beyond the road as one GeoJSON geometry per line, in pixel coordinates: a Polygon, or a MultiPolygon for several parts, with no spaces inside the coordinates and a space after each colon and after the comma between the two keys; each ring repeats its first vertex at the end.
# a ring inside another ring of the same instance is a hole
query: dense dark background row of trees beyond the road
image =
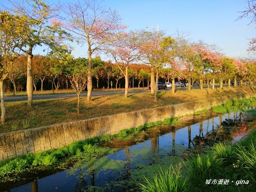
{"type": "MultiPolygon", "coordinates": [[[[87,58],[77,58],[73,59],[73,65],[71,64],[63,64],[59,62],[57,58],[35,55],[34,56],[34,67],[33,67],[33,85],[34,91],[40,87],[41,92],[43,90],[52,89],[54,92],[58,90],[60,87],[62,89],[69,89],[71,86],[70,82],[70,70],[74,66],[83,65],[85,68],[85,74],[87,74],[87,66],[88,60],[87,58]],[[51,84],[51,86],[49,86],[51,84]]],[[[254,81],[254,73],[255,71],[255,62],[252,61],[237,61],[232,58],[224,57],[221,58],[222,69],[217,71],[216,73],[205,73],[204,72],[204,83],[206,83],[209,87],[209,84],[212,84],[213,79],[217,79],[219,82],[226,81],[230,87],[230,81],[236,81],[239,79],[240,81],[251,82],[253,86],[254,81]],[[238,64],[241,65],[242,62],[244,68],[240,70],[238,64]],[[215,77],[215,78],[213,78],[215,77]]],[[[172,81],[173,77],[175,81],[188,82],[188,73],[185,69],[185,63],[181,67],[181,70],[178,71],[177,74],[172,74],[172,69],[169,67],[161,67],[159,68],[159,79],[162,82],[172,81]]],[[[120,66],[122,67],[122,66],[120,66]]],[[[124,68],[122,69],[124,70],[124,68]]],[[[132,79],[134,79],[135,87],[148,87],[150,82],[150,70],[151,67],[146,64],[130,64],[128,68],[128,81],[129,87],[131,87],[132,79]]],[[[200,81],[200,76],[195,71],[190,72],[190,80],[193,84],[194,81],[200,81]]],[[[26,56],[21,55],[17,60],[13,63],[12,70],[8,73],[8,79],[12,82],[13,93],[16,94],[16,84],[18,82],[18,89],[23,90],[24,81],[26,77],[26,56]]],[[[113,87],[116,89],[124,86],[124,75],[122,71],[119,69],[117,64],[112,64],[110,61],[102,61],[101,58],[96,57],[92,59],[92,77],[93,77],[93,88],[98,89],[99,87],[105,87],[109,89],[110,81],[113,81],[113,87]]],[[[87,79],[84,79],[85,82],[87,79]]],[[[86,85],[86,84],[85,84],[86,85]]],[[[85,86],[84,86],[85,88],[85,86]]],[[[175,90],[175,87],[173,87],[175,90]]]]}

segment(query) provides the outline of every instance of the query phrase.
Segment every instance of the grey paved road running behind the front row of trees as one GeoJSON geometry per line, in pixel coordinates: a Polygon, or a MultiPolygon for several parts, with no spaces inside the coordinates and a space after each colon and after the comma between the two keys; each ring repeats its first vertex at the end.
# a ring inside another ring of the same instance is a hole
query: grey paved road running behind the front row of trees
{"type": "MultiPolygon", "coordinates": [[[[227,86],[227,85],[224,85],[227,86]]],[[[219,87],[219,85],[215,85],[215,87],[219,87]]],[[[199,89],[200,86],[197,87],[191,87],[192,89],[199,89]]],[[[207,88],[204,86],[204,88],[207,88]]],[[[176,87],[175,90],[186,90],[187,87],[176,87]]],[[[160,90],[160,91],[171,91],[172,88],[168,88],[167,90],[160,90]]],[[[131,93],[143,93],[143,92],[149,92],[150,90],[148,89],[142,89],[142,90],[129,90],[128,94],[131,93]]],[[[92,96],[106,96],[106,95],[114,95],[114,94],[124,94],[124,90],[120,91],[111,91],[111,90],[105,90],[105,91],[93,91],[92,96]]],[[[81,93],[81,96],[87,96],[87,93],[81,93]]],[[[70,94],[56,94],[56,95],[34,95],[33,100],[37,99],[60,99],[60,98],[73,98],[76,97],[76,93],[70,93],[70,94]]],[[[5,102],[15,102],[15,101],[26,101],[27,96],[10,96],[10,97],[5,97],[5,102]]]]}

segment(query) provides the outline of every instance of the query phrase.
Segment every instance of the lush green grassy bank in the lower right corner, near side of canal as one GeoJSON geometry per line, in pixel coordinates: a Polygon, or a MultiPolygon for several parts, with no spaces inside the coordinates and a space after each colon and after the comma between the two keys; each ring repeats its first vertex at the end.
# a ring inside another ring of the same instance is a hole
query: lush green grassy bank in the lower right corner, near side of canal
{"type": "Polygon", "coordinates": [[[140,184],[143,192],[254,192],[256,130],[234,145],[215,144],[209,151],[162,170],[140,184]]]}

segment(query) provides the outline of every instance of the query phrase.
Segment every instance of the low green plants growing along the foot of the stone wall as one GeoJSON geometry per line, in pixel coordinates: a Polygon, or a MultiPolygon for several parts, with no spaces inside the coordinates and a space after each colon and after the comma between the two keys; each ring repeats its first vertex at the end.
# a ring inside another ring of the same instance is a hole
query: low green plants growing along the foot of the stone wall
{"type": "MultiPolygon", "coordinates": [[[[215,111],[223,111],[236,108],[241,110],[244,106],[253,105],[256,99],[234,99],[223,105],[213,108],[215,111]],[[221,109],[221,110],[217,110],[221,109]]],[[[206,113],[207,111],[198,111],[196,114],[206,113]]],[[[255,111],[254,111],[255,112],[255,111]]],[[[29,170],[39,169],[52,169],[53,167],[62,166],[65,168],[70,161],[79,160],[83,157],[83,160],[91,160],[93,158],[104,156],[105,154],[116,151],[117,148],[105,147],[107,143],[112,140],[130,140],[131,138],[138,139],[136,136],[138,133],[152,128],[157,125],[178,125],[182,124],[179,119],[186,118],[176,117],[171,119],[164,119],[164,121],[150,122],[141,125],[137,128],[130,128],[119,131],[115,135],[103,135],[100,137],[90,138],[84,141],[74,142],[62,148],[44,151],[36,154],[27,154],[13,159],[8,159],[0,162],[0,180],[9,180],[14,174],[27,172],[29,170]]],[[[215,137],[216,139],[216,137],[215,137]]]]}

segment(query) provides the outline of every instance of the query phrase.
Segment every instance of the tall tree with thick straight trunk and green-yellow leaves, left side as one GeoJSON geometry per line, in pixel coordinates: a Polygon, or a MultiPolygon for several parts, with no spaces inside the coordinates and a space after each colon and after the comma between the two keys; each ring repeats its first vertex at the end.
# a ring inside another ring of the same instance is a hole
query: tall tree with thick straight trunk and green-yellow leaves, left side
{"type": "MultiPolygon", "coordinates": [[[[20,49],[27,55],[27,95],[28,106],[33,104],[33,49],[36,46],[47,45],[54,47],[59,41],[56,38],[56,32],[59,35],[63,35],[65,32],[60,30],[60,26],[55,22],[55,18],[58,17],[59,8],[56,5],[49,5],[41,0],[23,0],[20,2],[12,2],[14,8],[13,12],[20,16],[26,16],[30,18],[26,28],[23,29],[21,34],[26,39],[26,46],[20,47],[20,49]],[[49,24],[49,21],[53,25],[49,24]]],[[[60,36],[58,36],[60,37],[60,36]]]]}

